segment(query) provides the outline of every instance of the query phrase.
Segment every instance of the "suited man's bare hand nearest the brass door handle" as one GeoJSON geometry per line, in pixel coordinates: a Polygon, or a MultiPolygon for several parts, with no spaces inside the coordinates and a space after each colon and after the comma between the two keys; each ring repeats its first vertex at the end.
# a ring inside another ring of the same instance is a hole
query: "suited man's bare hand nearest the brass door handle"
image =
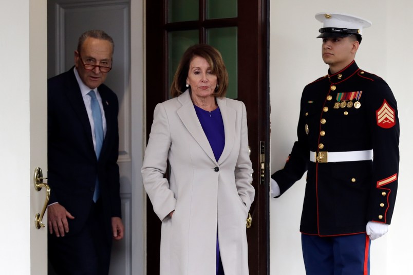
{"type": "Polygon", "coordinates": [[[54,233],[57,237],[64,236],[69,232],[69,224],[67,218],[74,219],[74,217],[66,211],[66,208],[59,203],[52,204],[47,207],[47,224],[50,234],[54,233]]]}

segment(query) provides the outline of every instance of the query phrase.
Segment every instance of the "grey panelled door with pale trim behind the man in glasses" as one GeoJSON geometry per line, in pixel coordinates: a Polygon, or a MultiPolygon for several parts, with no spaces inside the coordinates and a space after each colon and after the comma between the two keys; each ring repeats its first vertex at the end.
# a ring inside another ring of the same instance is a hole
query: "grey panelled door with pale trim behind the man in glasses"
{"type": "Polygon", "coordinates": [[[113,67],[105,84],[119,99],[118,164],[125,236],[114,242],[112,275],[144,274],[142,10],[143,0],[48,1],[48,78],[73,66],[73,52],[84,31],[102,29],[115,42],[113,67]]]}

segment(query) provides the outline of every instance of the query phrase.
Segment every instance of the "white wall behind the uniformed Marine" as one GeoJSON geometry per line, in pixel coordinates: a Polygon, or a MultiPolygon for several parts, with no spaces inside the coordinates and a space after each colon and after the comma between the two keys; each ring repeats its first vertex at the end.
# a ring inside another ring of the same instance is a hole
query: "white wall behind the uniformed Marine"
{"type": "MultiPolygon", "coordinates": [[[[321,40],[316,39],[321,23],[317,12],[346,12],[373,22],[363,31],[356,55],[359,67],[376,74],[391,87],[398,101],[400,135],[399,190],[389,233],[371,244],[371,274],[406,274],[413,259],[413,122],[410,121],[413,91],[413,2],[411,0],[271,1],[270,4],[270,90],[271,172],[282,168],[296,140],[299,99],[304,86],[327,74],[321,59],[321,40]],[[397,3],[397,4],[395,4],[397,3]],[[410,115],[410,116],[409,116],[410,115]]],[[[270,203],[271,274],[305,274],[299,221],[305,181],[270,203]]],[[[410,271],[411,272],[411,271],[410,271]]]]}

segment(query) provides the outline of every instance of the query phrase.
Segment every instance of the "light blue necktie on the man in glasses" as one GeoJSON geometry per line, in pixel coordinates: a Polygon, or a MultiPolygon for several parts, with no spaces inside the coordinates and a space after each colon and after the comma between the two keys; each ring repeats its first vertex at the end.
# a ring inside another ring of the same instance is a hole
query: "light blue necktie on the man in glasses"
{"type": "MultiPolygon", "coordinates": [[[[102,125],[102,112],[100,111],[100,106],[98,99],[96,98],[95,91],[91,90],[89,93],[87,93],[90,98],[90,107],[92,109],[92,117],[93,117],[93,123],[95,123],[95,139],[96,139],[96,157],[99,159],[100,155],[100,150],[102,149],[102,143],[103,143],[103,125],[102,125]]],[[[96,177],[96,184],[95,184],[95,192],[93,193],[93,201],[98,200],[99,198],[99,180],[98,177],[96,177]]]]}

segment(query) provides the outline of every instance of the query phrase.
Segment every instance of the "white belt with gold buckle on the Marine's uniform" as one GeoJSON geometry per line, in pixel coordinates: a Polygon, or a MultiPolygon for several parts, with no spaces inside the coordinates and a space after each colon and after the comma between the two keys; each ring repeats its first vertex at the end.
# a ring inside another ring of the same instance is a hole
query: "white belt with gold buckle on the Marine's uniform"
{"type": "Polygon", "coordinates": [[[348,151],[348,152],[313,152],[310,151],[310,161],[312,162],[342,162],[342,161],[359,161],[372,160],[373,150],[348,151]]]}

